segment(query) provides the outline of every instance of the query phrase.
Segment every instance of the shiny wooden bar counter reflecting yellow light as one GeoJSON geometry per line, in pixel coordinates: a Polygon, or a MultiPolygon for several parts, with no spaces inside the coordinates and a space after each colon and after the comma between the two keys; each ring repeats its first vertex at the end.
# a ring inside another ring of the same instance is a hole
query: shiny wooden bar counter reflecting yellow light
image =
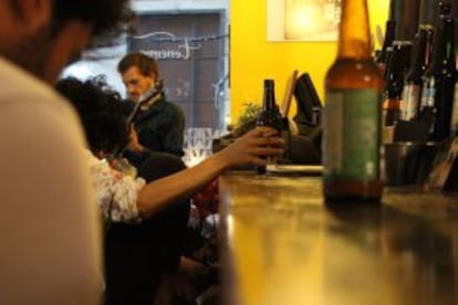
{"type": "Polygon", "coordinates": [[[223,304],[458,304],[458,198],[324,204],[320,177],[220,180],[223,304]]]}

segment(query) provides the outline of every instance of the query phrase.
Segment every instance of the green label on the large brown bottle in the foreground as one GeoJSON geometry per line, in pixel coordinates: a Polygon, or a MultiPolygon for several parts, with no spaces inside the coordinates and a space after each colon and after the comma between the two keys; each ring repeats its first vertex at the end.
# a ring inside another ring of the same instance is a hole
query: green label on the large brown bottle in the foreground
{"type": "Polygon", "coordinates": [[[326,92],[325,180],[375,180],[379,171],[379,95],[374,90],[326,92]]]}

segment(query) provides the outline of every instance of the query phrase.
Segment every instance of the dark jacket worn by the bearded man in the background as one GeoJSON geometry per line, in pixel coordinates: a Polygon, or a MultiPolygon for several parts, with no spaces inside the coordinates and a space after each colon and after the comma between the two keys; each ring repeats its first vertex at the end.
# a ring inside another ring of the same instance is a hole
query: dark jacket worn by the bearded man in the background
{"type": "Polygon", "coordinates": [[[149,150],[184,155],[185,114],[165,96],[135,119],[139,143],[149,150]]]}

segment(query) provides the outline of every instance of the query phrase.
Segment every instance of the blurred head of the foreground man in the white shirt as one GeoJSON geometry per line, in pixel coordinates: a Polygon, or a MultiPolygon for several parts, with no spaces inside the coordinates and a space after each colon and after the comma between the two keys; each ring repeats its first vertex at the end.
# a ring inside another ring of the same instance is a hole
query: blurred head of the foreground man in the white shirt
{"type": "Polygon", "coordinates": [[[112,36],[132,18],[128,0],[0,1],[0,54],[54,83],[91,38],[112,36]],[[55,54],[59,54],[56,56],[55,54]]]}

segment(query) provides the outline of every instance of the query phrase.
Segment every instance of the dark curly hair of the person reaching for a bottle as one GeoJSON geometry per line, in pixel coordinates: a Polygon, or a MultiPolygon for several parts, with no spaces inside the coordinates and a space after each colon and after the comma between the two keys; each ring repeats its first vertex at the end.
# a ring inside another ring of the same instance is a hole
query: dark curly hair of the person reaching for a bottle
{"type": "Polygon", "coordinates": [[[66,97],[80,115],[91,150],[112,154],[128,141],[126,103],[97,76],[82,82],[74,77],[60,80],[58,92],[66,97]]]}

